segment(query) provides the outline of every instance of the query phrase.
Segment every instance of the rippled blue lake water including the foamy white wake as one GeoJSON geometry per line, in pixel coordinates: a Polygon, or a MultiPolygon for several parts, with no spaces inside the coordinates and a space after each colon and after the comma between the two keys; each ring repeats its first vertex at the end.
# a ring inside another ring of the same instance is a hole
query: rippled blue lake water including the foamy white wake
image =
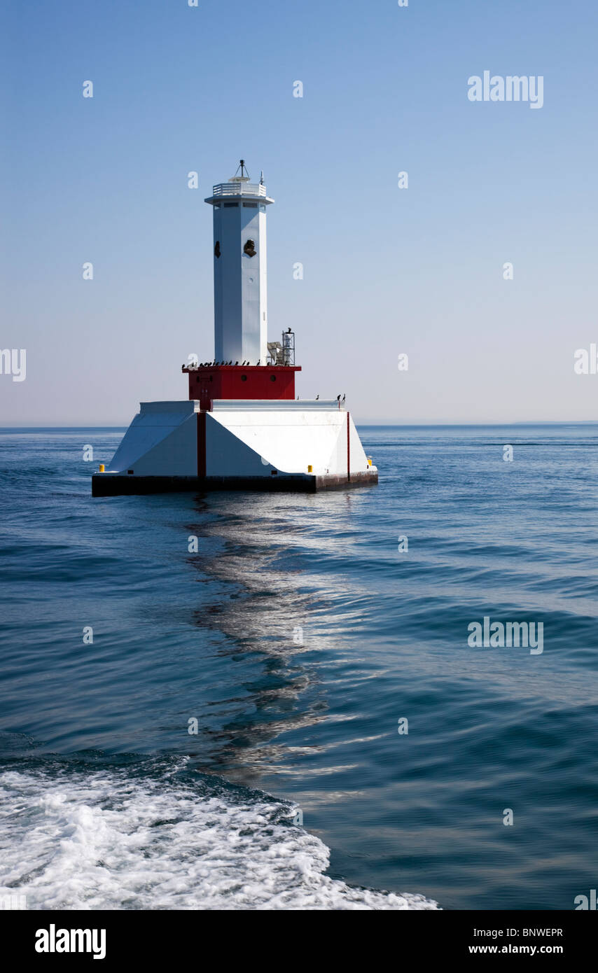
{"type": "Polygon", "coordinates": [[[572,909],[596,887],[598,426],[360,432],[378,487],[95,499],[122,431],[0,434],[4,891],[572,909]],[[542,622],[542,654],[470,648],[484,615],[542,622]]]}

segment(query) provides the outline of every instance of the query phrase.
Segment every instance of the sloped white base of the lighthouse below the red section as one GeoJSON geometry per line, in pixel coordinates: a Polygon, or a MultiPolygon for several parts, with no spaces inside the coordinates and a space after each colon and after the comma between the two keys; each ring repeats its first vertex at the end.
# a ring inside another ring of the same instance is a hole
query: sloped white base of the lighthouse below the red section
{"type": "Polygon", "coordinates": [[[336,401],[215,400],[209,413],[198,401],[142,402],[93,493],[146,492],[145,478],[167,489],[318,489],[377,482],[378,471],[336,401]],[[190,478],[198,483],[183,486],[190,478]]]}

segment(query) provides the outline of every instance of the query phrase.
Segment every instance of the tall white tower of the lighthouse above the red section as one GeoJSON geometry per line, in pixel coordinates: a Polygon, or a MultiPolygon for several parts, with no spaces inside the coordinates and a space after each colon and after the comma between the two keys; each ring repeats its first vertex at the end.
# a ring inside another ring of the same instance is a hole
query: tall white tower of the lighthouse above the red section
{"type": "Polygon", "coordinates": [[[266,363],[268,296],[266,194],[263,175],[249,182],[242,159],[237,174],[206,198],[214,224],[214,354],[220,362],[266,363]]]}

